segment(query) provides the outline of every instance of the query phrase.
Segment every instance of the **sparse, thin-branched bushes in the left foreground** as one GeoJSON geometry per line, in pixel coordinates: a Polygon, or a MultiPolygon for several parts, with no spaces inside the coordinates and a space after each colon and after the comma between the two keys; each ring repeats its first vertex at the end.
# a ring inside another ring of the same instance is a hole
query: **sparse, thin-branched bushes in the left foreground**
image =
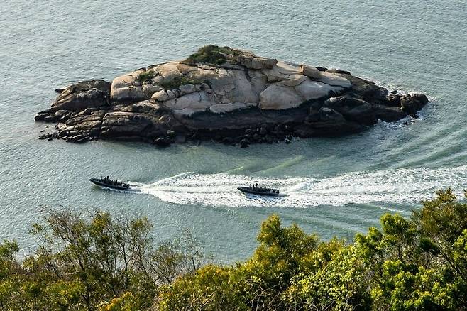
{"type": "Polygon", "coordinates": [[[158,286],[204,260],[189,233],[155,247],[145,218],[46,212],[35,253],[19,262],[16,243],[0,244],[0,310],[148,309],[158,286]]]}

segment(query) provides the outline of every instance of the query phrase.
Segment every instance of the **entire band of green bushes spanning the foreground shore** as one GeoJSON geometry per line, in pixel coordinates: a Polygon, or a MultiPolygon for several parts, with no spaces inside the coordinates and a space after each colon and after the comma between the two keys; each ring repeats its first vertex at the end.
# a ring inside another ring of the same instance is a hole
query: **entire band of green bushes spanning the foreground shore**
{"type": "Polygon", "coordinates": [[[150,227],[48,211],[34,253],[20,261],[16,242],[0,244],[0,310],[467,310],[467,204],[451,190],[351,244],[272,215],[233,266],[202,266],[186,233],[154,246],[150,227]]]}

